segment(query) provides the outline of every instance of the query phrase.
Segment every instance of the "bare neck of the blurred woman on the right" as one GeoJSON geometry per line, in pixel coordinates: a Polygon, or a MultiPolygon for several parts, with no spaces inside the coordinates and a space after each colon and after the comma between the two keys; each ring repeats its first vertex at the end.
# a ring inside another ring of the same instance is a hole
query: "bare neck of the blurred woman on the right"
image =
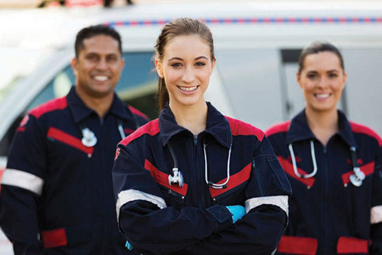
{"type": "Polygon", "coordinates": [[[339,131],[337,109],[318,112],[306,108],[305,114],[310,130],[322,145],[326,146],[330,138],[339,131]]]}

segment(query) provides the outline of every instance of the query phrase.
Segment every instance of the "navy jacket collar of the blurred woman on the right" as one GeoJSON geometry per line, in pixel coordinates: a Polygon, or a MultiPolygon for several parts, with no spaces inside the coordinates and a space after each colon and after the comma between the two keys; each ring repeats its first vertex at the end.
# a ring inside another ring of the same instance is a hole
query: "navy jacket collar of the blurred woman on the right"
{"type": "MultiPolygon", "coordinates": [[[[338,110],[337,112],[339,125],[339,132],[337,135],[339,135],[347,143],[348,146],[356,146],[349,121],[342,111],[338,110]]],[[[286,142],[289,144],[297,141],[312,139],[316,138],[310,130],[304,109],[292,119],[289,131],[286,136],[286,142]]]]}

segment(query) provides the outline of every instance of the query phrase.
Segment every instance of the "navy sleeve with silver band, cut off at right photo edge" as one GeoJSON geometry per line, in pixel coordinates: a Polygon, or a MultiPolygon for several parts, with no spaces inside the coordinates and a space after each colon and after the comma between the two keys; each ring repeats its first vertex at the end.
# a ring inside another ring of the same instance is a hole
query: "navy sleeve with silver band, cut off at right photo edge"
{"type": "Polygon", "coordinates": [[[372,188],[371,246],[370,254],[382,253],[382,147],[378,147],[375,159],[372,188]]]}

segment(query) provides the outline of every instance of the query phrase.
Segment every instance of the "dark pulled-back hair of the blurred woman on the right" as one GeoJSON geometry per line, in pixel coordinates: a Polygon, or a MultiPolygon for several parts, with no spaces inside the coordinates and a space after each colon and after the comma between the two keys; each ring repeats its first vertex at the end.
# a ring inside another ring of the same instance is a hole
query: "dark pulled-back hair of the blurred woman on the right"
{"type": "Polygon", "coordinates": [[[301,52],[301,54],[298,58],[298,74],[301,74],[301,71],[304,69],[305,58],[308,55],[317,54],[320,52],[331,52],[331,53],[336,54],[340,60],[340,66],[341,66],[342,70],[345,71],[345,67],[343,64],[343,58],[342,58],[342,54],[341,54],[340,50],[336,46],[334,46],[333,44],[331,44],[329,42],[315,41],[315,42],[312,42],[311,44],[309,44],[308,46],[306,46],[303,49],[303,51],[301,52]]]}

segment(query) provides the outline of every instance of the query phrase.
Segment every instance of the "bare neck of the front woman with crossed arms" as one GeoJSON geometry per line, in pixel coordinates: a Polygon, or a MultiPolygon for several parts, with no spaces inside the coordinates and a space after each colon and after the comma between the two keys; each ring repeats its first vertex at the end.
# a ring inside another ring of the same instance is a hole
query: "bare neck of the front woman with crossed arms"
{"type": "Polygon", "coordinates": [[[207,104],[204,100],[192,106],[179,106],[170,100],[169,105],[178,125],[185,127],[194,135],[206,129],[207,104]]]}

